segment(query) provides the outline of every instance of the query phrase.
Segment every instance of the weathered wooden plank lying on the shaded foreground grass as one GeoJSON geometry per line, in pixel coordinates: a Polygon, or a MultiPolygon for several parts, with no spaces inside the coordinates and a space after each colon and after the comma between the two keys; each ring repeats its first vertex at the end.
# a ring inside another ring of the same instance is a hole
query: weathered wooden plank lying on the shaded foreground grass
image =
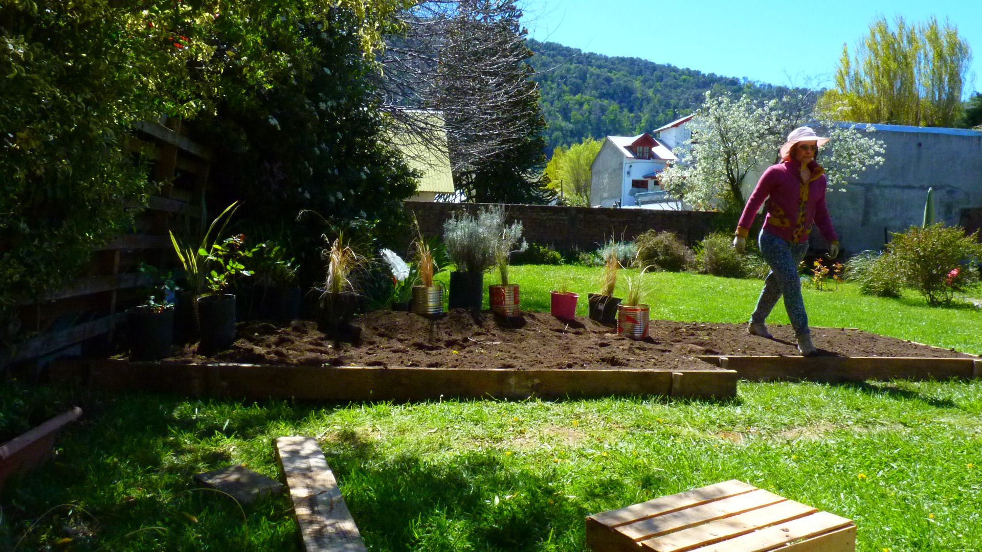
{"type": "Polygon", "coordinates": [[[307,552],[366,550],[338,481],[313,437],[278,437],[276,456],[290,488],[307,552]]]}

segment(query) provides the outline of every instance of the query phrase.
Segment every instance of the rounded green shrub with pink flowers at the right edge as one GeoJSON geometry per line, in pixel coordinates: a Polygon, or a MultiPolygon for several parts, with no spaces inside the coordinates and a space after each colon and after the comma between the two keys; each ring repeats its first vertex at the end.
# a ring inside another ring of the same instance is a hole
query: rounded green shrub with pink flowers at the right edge
{"type": "Polygon", "coordinates": [[[982,257],[978,232],[966,236],[960,227],[944,223],[911,226],[894,234],[888,250],[903,283],[920,292],[928,304],[949,304],[955,292],[978,280],[975,264],[982,257]]]}

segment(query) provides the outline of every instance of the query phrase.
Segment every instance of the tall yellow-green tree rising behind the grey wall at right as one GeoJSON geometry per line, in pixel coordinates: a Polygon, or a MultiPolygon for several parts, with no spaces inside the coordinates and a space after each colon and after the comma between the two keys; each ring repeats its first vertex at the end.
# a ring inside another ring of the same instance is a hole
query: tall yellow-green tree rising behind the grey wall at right
{"type": "Polygon", "coordinates": [[[951,127],[971,60],[968,42],[947,21],[908,25],[898,17],[891,27],[881,17],[851,59],[843,45],[836,86],[819,109],[840,121],[951,127]]]}

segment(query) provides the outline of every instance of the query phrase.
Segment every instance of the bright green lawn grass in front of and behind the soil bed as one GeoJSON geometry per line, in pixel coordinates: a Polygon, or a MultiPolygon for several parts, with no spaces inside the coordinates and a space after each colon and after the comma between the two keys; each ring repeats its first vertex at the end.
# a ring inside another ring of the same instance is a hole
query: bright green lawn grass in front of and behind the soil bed
{"type": "MultiPolygon", "coordinates": [[[[598,269],[562,270],[573,291],[595,288],[598,269]]],[[[524,308],[548,308],[555,273],[513,268],[524,308]]],[[[760,286],[645,278],[657,316],[685,320],[742,321],[760,286]]],[[[874,300],[849,286],[805,301],[816,325],[982,350],[977,310],[874,300]]],[[[318,406],[59,393],[86,415],[53,462],[8,483],[0,549],[299,550],[285,498],[240,510],[191,482],[232,463],[279,477],[272,440],[291,434],[320,439],[369,550],[583,550],[591,513],[729,478],[855,520],[861,551],[982,549],[979,380],[742,382],[723,403],[318,406]]]]}

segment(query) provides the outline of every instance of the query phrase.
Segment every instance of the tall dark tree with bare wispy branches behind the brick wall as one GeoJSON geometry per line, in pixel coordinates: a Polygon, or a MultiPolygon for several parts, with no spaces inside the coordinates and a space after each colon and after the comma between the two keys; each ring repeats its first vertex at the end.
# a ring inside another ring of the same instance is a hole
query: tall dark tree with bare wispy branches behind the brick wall
{"type": "Polygon", "coordinates": [[[545,120],[515,0],[416,5],[383,58],[385,110],[423,140],[442,114],[455,186],[467,200],[542,202],[545,120]],[[419,109],[425,111],[420,112],[419,109]]]}

